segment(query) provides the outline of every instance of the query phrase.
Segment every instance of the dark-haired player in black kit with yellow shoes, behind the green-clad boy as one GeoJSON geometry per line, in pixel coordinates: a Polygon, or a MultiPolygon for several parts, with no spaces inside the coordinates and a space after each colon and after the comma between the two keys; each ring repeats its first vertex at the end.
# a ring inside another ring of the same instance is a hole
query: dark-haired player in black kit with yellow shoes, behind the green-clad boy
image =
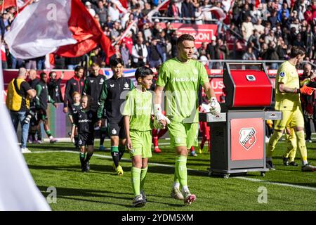
{"type": "Polygon", "coordinates": [[[123,175],[124,171],[119,165],[119,160],[121,160],[125,151],[126,134],[123,115],[121,115],[121,105],[125,101],[126,94],[133,89],[133,82],[129,78],[122,77],[124,63],[121,58],[110,60],[110,66],[113,71],[113,77],[107,79],[103,84],[99,98],[98,125],[101,127],[101,118],[105,108],[108,131],[111,137],[113,167],[118,175],[123,175]]]}

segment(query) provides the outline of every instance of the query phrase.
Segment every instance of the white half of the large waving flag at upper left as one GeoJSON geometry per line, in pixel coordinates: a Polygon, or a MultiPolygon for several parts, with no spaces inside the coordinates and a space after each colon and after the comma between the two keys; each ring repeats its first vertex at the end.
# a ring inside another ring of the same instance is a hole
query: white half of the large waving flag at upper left
{"type": "Polygon", "coordinates": [[[68,27],[72,1],[41,0],[19,13],[4,39],[15,58],[45,56],[60,46],[76,44],[68,27]]]}

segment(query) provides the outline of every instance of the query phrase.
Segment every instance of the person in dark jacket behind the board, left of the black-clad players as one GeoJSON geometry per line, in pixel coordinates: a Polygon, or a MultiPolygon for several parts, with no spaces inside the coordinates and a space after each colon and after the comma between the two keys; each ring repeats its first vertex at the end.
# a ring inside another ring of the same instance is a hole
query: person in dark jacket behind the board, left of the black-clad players
{"type": "Polygon", "coordinates": [[[62,93],[61,93],[61,88],[60,88],[62,79],[64,79],[63,71],[58,79],[57,79],[57,74],[55,71],[51,71],[49,73],[49,82],[47,83],[48,94],[49,96],[51,96],[51,98],[53,99],[55,103],[64,102],[62,100],[62,93]]]}

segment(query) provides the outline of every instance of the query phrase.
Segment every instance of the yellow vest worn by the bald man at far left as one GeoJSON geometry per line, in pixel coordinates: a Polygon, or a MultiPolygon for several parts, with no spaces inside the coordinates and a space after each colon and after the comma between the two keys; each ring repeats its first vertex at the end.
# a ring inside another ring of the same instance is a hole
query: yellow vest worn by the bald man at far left
{"type": "Polygon", "coordinates": [[[24,79],[13,79],[10,84],[8,84],[8,92],[6,95],[6,107],[12,111],[19,111],[22,106],[22,100],[25,99],[25,106],[29,109],[29,99],[26,96],[22,96],[20,86],[24,79]]]}

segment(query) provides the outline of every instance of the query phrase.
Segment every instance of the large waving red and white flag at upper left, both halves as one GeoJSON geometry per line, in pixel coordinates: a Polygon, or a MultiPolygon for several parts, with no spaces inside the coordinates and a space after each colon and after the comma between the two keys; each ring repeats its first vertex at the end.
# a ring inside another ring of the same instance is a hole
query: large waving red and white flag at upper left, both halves
{"type": "Polygon", "coordinates": [[[15,58],[28,59],[57,53],[77,57],[100,44],[107,57],[111,41],[79,0],[41,0],[20,12],[4,39],[15,58]]]}

